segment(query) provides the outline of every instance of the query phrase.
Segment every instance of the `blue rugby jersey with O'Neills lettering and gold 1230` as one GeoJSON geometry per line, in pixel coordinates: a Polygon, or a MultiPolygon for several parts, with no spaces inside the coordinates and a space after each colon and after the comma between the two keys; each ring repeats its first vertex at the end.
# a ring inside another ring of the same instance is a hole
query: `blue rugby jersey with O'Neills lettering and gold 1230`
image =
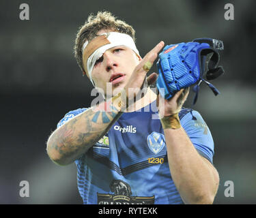
{"type": "MultiPolygon", "coordinates": [[[[153,104],[153,103],[152,103],[153,104]]],[[[108,133],[75,161],[84,204],[183,204],[169,170],[165,135],[157,112],[122,114],[108,133]]],[[[148,108],[147,108],[148,109],[148,108]]],[[[57,127],[84,112],[68,112],[57,127]]],[[[156,110],[154,110],[156,111],[156,110]]],[[[199,112],[182,108],[179,117],[195,149],[212,163],[214,142],[199,112]]]]}

